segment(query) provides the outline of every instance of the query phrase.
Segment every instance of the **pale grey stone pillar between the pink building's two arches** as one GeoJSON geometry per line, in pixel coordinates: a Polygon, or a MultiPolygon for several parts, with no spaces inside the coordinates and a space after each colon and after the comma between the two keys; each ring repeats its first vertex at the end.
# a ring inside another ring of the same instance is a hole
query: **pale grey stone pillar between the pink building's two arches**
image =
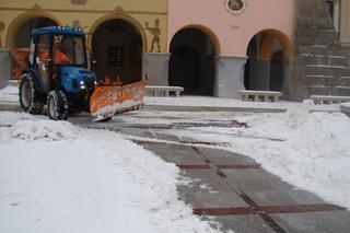
{"type": "Polygon", "coordinates": [[[247,57],[219,56],[215,59],[214,96],[237,97],[244,88],[244,65],[247,57]]]}

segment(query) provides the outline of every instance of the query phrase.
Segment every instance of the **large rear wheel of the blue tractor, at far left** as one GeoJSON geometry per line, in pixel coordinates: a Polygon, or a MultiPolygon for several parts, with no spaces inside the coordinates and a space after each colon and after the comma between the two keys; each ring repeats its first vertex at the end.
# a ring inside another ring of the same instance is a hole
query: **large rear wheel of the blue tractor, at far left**
{"type": "Polygon", "coordinates": [[[20,83],[20,104],[24,112],[40,114],[44,104],[40,102],[31,74],[25,73],[20,83]]]}

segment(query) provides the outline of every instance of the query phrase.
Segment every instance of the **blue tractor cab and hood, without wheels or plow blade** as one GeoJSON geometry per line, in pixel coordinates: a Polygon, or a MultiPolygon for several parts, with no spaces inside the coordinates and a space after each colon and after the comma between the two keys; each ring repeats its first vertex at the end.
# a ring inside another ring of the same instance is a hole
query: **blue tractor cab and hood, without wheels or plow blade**
{"type": "Polygon", "coordinates": [[[93,91],[96,77],[86,69],[84,33],[73,27],[32,32],[28,63],[39,77],[40,91],[61,86],[69,94],[93,91]]]}

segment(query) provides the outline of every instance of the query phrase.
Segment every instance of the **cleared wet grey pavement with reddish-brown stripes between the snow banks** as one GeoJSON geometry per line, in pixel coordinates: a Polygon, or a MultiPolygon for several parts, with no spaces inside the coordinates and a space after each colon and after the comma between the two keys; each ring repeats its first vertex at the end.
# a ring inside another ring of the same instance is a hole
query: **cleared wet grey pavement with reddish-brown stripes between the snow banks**
{"type": "Polygon", "coordinates": [[[198,141],[176,132],[189,127],[234,127],[232,113],[170,112],[164,116],[158,110],[128,113],[105,124],[79,117],[71,121],[127,135],[176,164],[187,180],[177,187],[180,198],[195,214],[219,222],[212,224],[222,232],[350,232],[350,212],[345,208],[287,184],[246,155],[225,150],[228,142],[198,141]]]}

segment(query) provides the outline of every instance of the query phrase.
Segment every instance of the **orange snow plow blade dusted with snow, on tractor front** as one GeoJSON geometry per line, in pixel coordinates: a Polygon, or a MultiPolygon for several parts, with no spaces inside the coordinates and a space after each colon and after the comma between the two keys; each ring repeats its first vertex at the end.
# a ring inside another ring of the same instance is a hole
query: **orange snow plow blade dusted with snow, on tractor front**
{"type": "Polygon", "coordinates": [[[117,113],[139,109],[143,106],[147,80],[127,85],[96,86],[90,98],[93,121],[103,121],[117,113]]]}

